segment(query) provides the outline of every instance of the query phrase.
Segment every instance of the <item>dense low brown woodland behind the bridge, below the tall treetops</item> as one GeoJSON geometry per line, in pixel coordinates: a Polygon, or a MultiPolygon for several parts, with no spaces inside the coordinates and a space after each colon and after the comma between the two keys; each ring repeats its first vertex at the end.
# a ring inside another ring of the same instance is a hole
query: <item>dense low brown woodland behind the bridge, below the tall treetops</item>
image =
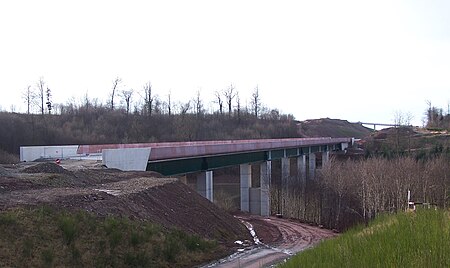
{"type": "Polygon", "coordinates": [[[18,154],[25,145],[298,137],[293,116],[278,110],[206,113],[189,106],[169,113],[156,108],[129,112],[86,101],[60,105],[57,114],[0,112],[0,149],[18,154]]]}

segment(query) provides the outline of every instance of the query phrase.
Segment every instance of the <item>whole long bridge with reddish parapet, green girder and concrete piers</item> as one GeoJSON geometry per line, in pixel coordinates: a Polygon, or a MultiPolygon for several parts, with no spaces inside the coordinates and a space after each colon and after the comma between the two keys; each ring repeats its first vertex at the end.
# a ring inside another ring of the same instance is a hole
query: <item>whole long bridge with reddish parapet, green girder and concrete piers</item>
{"type": "MultiPolygon", "coordinates": [[[[287,184],[295,160],[299,180],[314,179],[316,155],[322,165],[331,151],[345,150],[352,138],[293,138],[198,142],[163,142],[73,146],[28,146],[20,148],[21,161],[73,157],[101,157],[108,168],[156,171],[165,176],[197,173],[197,192],[213,201],[213,172],[240,167],[242,211],[270,214],[271,161],[281,160],[282,185],[287,184]],[[252,187],[252,165],[259,165],[259,187],[252,187]]],[[[95,159],[95,158],[94,158],[95,159]]],[[[284,189],[284,187],[282,187],[284,189]]],[[[282,189],[282,191],[283,191],[282,189]]]]}

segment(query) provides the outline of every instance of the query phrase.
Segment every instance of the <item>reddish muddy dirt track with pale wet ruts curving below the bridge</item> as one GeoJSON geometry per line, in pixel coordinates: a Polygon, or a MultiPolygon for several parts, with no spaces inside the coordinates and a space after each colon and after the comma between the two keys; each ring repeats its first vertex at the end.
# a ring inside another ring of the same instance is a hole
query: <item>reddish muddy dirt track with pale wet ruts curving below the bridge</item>
{"type": "Polygon", "coordinates": [[[255,245],[204,267],[267,267],[336,236],[330,230],[275,217],[237,216],[254,234],[255,245]],[[258,230],[261,230],[258,233],[258,230]]]}

